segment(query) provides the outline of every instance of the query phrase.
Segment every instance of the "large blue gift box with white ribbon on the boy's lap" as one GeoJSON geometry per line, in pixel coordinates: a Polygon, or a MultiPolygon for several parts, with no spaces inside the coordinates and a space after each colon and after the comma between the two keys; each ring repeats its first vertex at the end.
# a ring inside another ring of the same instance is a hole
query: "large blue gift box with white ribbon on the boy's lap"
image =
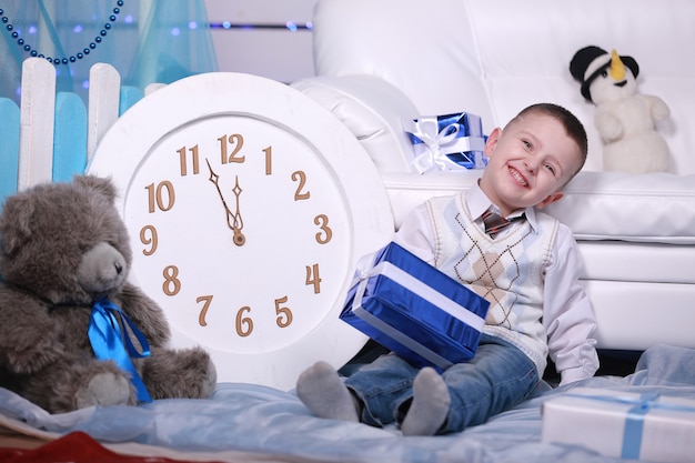
{"type": "Polygon", "coordinates": [[[360,261],[340,318],[413,365],[443,371],[475,355],[488,308],[392,242],[360,261]]]}

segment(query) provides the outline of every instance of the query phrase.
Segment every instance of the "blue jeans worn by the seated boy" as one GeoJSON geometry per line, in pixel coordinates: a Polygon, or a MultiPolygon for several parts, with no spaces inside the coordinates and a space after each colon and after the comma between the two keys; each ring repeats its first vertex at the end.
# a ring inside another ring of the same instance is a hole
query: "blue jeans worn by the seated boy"
{"type": "MultiPolygon", "coordinates": [[[[373,426],[401,423],[413,399],[419,368],[390,353],[345,379],[362,402],[361,420],[373,426]]],[[[483,334],[475,356],[442,373],[451,406],[440,434],[461,432],[526,400],[540,381],[535,364],[512,344],[483,334]]]]}

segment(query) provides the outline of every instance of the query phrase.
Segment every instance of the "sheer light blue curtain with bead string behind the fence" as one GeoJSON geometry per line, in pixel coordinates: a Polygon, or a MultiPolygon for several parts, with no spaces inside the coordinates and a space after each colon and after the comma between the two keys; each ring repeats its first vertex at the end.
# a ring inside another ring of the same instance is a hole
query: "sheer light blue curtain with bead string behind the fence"
{"type": "Polygon", "coordinates": [[[203,0],[0,0],[0,97],[17,102],[32,53],[53,62],[58,91],[85,103],[97,62],[141,89],[218,70],[203,0]]]}

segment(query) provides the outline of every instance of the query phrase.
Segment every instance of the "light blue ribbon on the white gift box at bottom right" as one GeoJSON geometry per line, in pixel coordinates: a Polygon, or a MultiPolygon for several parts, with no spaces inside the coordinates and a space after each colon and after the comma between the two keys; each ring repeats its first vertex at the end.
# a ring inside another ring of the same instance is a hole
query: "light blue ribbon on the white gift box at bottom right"
{"type": "Polygon", "coordinates": [[[564,396],[633,405],[629,410],[627,410],[625,430],[623,433],[623,445],[621,451],[621,457],[627,460],[639,459],[639,451],[642,449],[642,434],[644,430],[644,419],[646,414],[649,413],[649,411],[671,410],[677,412],[695,413],[695,406],[658,402],[658,392],[644,393],[639,397],[583,394],[564,394],[564,396]]]}

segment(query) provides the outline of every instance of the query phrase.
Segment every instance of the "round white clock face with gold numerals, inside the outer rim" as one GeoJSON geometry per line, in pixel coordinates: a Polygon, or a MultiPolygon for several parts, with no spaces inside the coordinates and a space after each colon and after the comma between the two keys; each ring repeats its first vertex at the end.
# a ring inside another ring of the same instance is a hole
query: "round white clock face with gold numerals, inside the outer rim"
{"type": "Polygon", "coordinates": [[[218,350],[298,342],[326,316],[316,308],[335,303],[351,265],[351,211],[333,171],[258,119],[216,115],[164,137],[123,211],[141,251],[139,284],[185,335],[218,350]]]}

